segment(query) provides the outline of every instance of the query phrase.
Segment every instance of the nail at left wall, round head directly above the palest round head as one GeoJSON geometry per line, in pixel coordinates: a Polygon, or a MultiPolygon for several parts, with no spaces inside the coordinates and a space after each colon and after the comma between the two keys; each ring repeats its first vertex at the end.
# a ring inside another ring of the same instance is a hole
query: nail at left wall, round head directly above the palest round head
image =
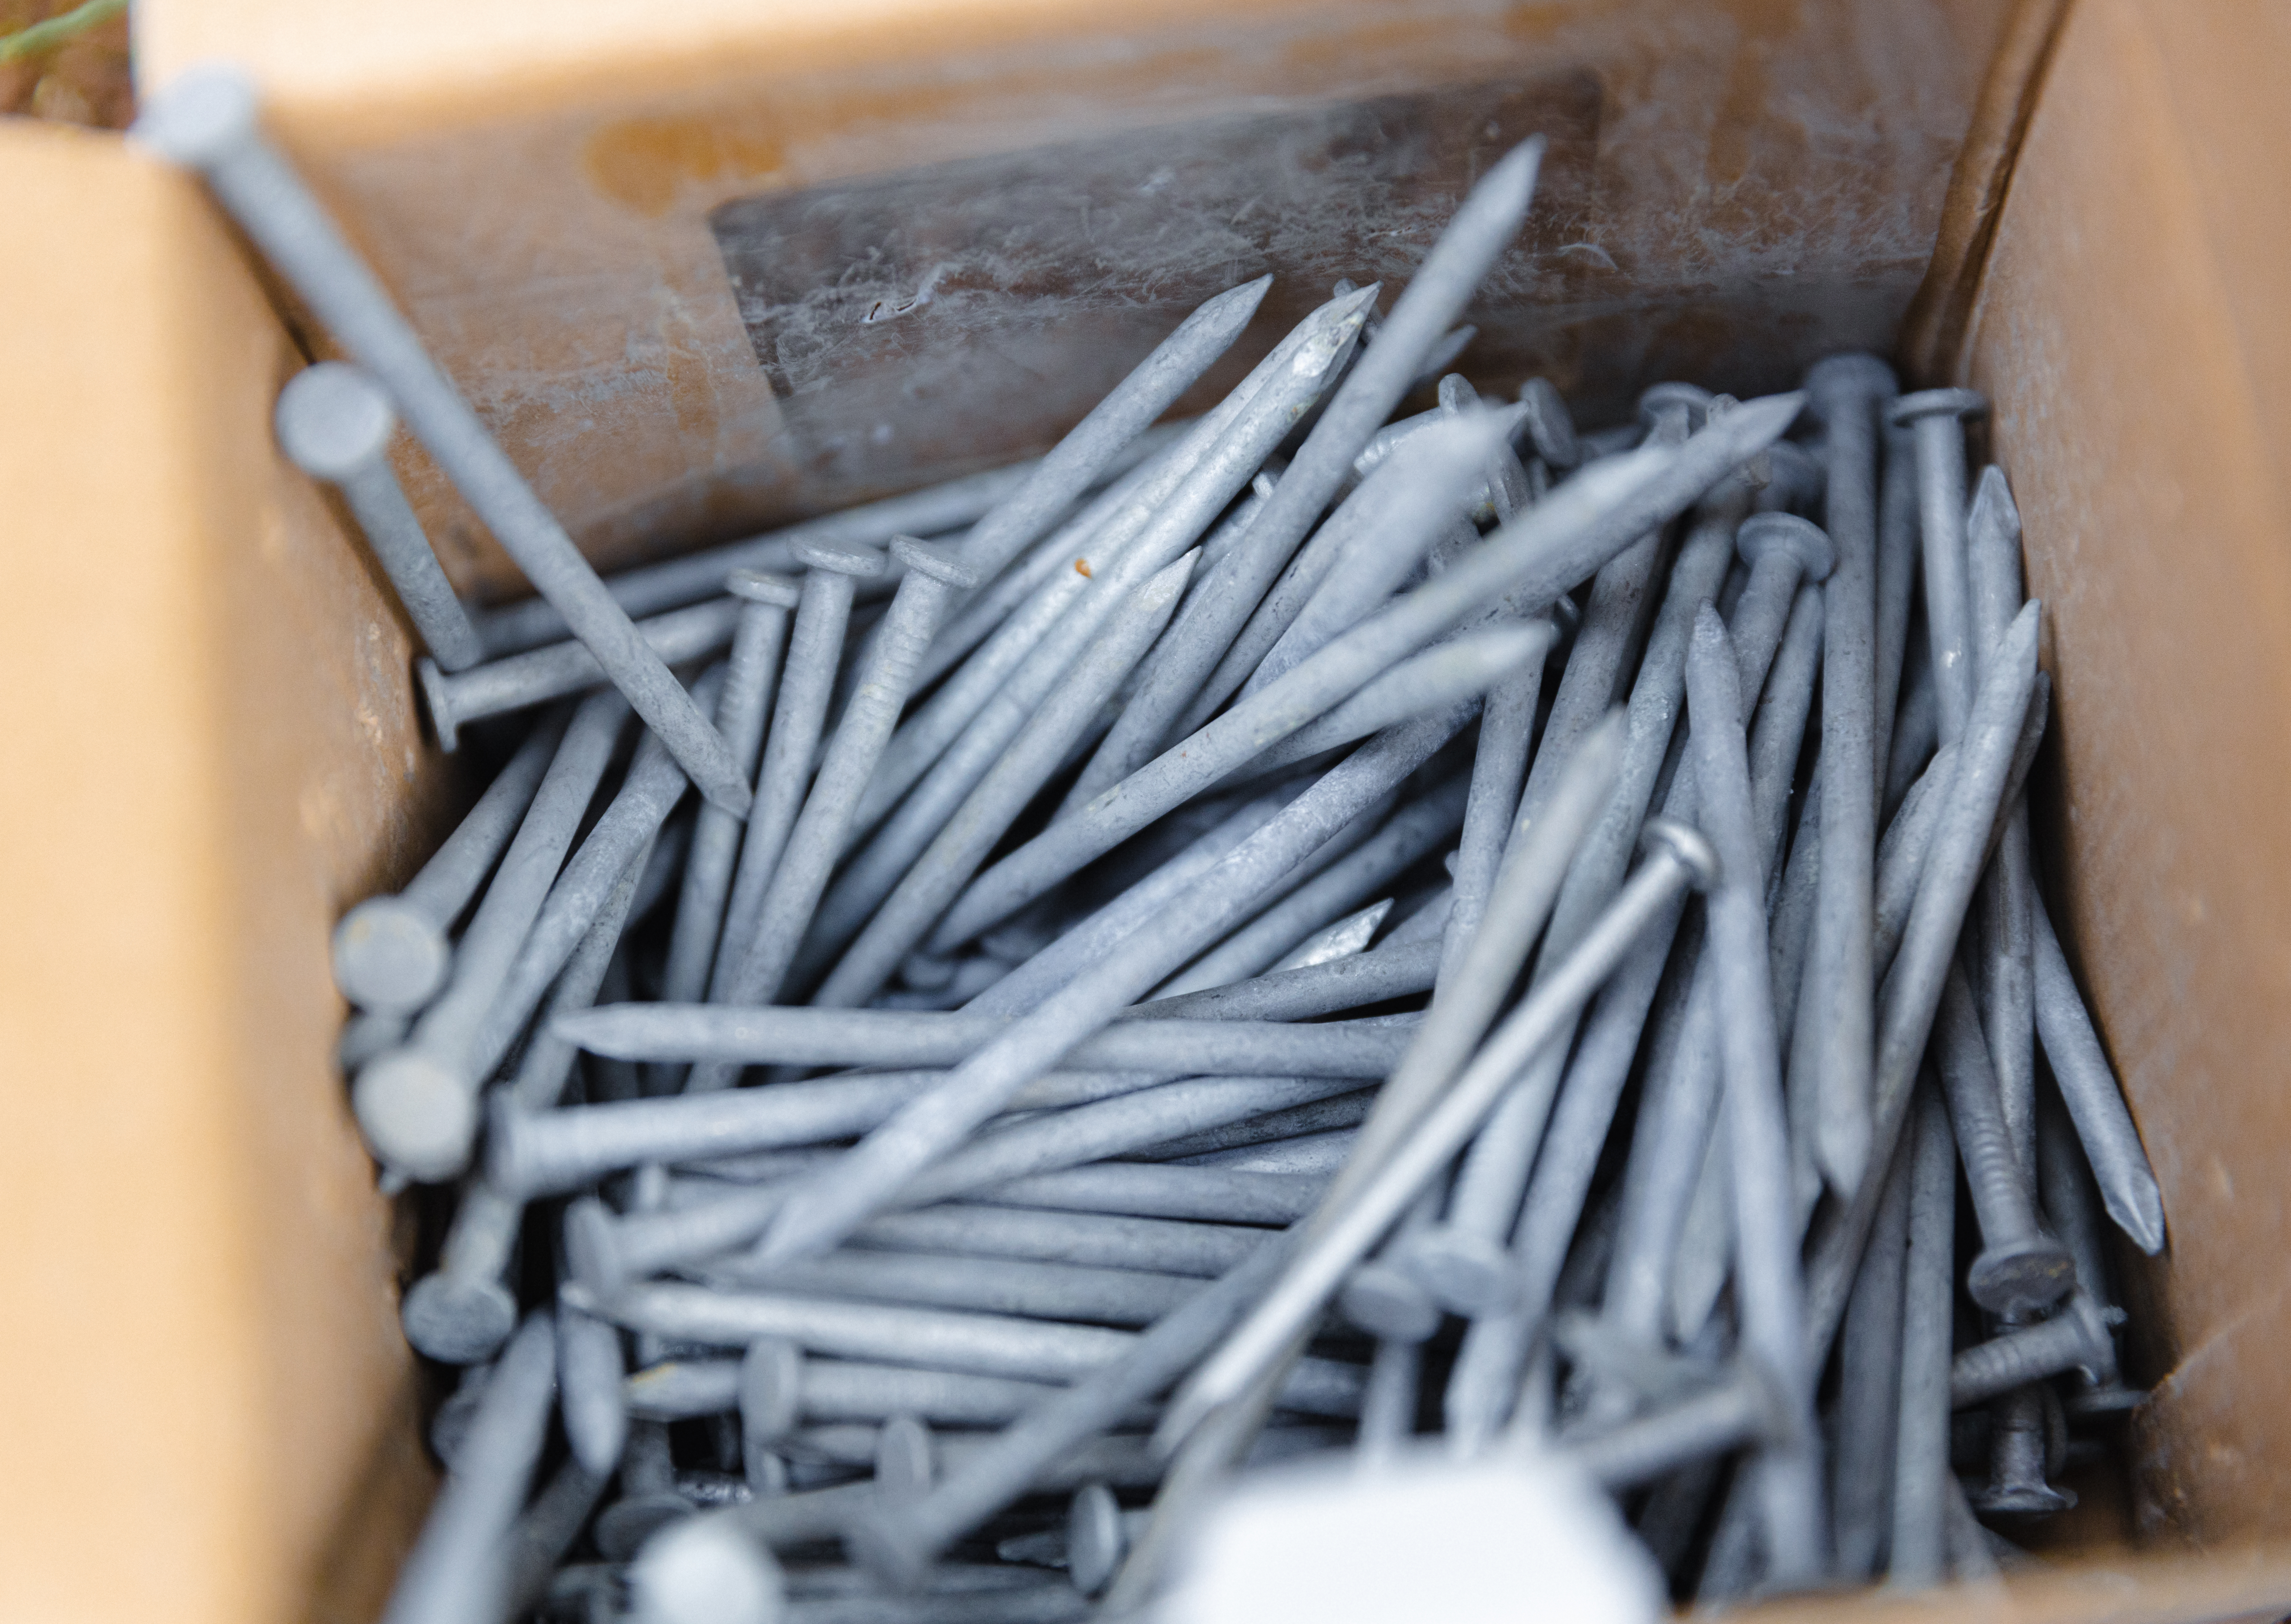
{"type": "Polygon", "coordinates": [[[435,996],[454,955],[447,932],[522,827],[566,722],[568,715],[552,715],[525,735],[470,815],[403,891],[371,896],[341,916],[332,939],[341,996],[385,1015],[412,1015],[435,996]]]}

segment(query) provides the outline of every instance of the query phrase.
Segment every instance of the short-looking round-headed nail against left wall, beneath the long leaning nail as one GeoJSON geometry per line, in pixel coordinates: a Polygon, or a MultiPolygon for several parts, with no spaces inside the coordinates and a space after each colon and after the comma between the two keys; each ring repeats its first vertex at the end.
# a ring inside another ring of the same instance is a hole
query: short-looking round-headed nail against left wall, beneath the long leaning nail
{"type": "Polygon", "coordinates": [[[399,476],[389,472],[389,435],[399,415],[383,387],[357,366],[318,362],[280,389],[275,421],[280,449],[293,465],[341,490],[431,660],[444,671],[465,671],[483,660],[477,628],[438,566],[422,520],[406,504],[399,476]]]}

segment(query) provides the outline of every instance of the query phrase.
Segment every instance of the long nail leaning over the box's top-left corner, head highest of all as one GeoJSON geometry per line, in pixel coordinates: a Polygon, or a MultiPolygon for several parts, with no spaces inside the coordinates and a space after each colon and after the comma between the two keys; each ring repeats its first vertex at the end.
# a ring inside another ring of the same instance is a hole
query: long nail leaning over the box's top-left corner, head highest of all
{"type": "Polygon", "coordinates": [[[534,589],[566,616],[605,676],[662,735],[701,795],[745,815],[749,788],[708,717],[580,557],[515,463],[422,348],[373,273],[263,137],[243,69],[179,76],[135,121],[137,140],[192,167],[341,346],[380,378],[406,426],[467,497],[534,589]]]}

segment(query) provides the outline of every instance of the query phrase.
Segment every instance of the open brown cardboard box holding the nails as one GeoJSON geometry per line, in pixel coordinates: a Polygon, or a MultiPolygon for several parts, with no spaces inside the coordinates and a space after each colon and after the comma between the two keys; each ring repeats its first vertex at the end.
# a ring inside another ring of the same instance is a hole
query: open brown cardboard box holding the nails
{"type": "MultiPolygon", "coordinates": [[[[2002,1597],[1776,1613],[2291,1608],[2280,9],[149,0],[137,32],[147,82],[259,73],[607,563],[1045,444],[1239,275],[1281,309],[1404,279],[1535,128],[1475,376],[1549,371],[1592,421],[1840,346],[1986,389],[2048,605],[2048,880],[2172,1230],[2138,1276],[2156,1400],[2128,1509],[2002,1597]]],[[[270,444],[323,334],[112,137],[0,131],[0,1617],[371,1617],[431,1468],[325,935],[467,786],[270,444]]],[[[403,465],[458,582],[511,593],[403,465]]]]}

